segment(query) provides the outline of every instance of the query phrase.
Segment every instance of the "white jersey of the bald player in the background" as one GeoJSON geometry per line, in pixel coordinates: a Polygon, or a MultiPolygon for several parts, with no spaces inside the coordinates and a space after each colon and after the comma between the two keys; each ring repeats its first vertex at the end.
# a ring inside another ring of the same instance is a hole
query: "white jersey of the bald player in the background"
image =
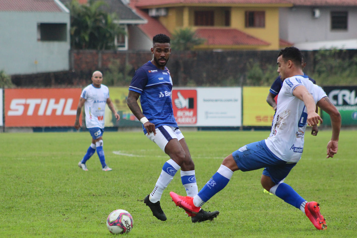
{"type": "Polygon", "coordinates": [[[90,84],[83,89],[81,97],[86,100],[84,103],[86,127],[104,128],[105,105],[109,98],[108,87],[100,85],[100,88],[96,88],[90,84]]]}

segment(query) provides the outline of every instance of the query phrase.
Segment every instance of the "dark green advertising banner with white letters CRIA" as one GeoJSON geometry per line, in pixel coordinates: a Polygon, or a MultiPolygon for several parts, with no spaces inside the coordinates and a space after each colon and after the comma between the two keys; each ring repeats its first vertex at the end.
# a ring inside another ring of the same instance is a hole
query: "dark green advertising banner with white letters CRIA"
{"type": "MultiPolygon", "coordinates": [[[[357,86],[323,87],[332,104],[341,113],[342,126],[357,125],[357,86]]],[[[330,116],[322,111],[323,125],[331,126],[330,116]]]]}

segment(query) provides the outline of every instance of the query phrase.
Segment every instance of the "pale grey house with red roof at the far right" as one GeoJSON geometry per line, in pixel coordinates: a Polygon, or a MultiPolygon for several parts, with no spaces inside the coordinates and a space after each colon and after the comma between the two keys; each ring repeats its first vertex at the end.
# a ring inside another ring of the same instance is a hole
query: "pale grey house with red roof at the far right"
{"type": "Polygon", "coordinates": [[[288,0],[279,9],[280,38],[301,50],[357,49],[356,0],[288,0]]]}

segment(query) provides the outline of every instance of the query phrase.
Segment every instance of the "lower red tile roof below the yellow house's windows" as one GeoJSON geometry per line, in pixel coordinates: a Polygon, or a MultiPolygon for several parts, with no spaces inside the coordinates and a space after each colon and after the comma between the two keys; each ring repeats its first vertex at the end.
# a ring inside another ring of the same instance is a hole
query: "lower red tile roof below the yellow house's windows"
{"type": "Polygon", "coordinates": [[[205,38],[205,45],[246,45],[246,46],[265,46],[268,42],[248,35],[237,29],[223,28],[198,28],[196,35],[205,38]]]}

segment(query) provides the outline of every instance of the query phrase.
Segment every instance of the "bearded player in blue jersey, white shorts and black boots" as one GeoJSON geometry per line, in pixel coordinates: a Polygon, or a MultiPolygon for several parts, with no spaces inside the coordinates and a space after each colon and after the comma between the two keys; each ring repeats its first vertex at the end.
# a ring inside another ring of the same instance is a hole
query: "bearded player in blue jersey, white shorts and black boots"
{"type": "MultiPolygon", "coordinates": [[[[170,37],[164,34],[154,36],[151,53],[152,60],[137,69],[132,78],[127,105],[142,123],[145,136],[170,156],[161,169],[153,191],[144,198],[144,203],[150,207],[152,214],[157,219],[166,221],[160,199],[178,169],[181,168],[181,181],[187,196],[195,196],[198,188],[195,164],[172,110],[172,80],[170,71],[165,66],[171,54],[170,37]],[[137,103],[139,96],[141,109],[137,103]]],[[[218,214],[218,211],[207,212],[201,209],[191,220],[212,220],[218,214]]]]}

